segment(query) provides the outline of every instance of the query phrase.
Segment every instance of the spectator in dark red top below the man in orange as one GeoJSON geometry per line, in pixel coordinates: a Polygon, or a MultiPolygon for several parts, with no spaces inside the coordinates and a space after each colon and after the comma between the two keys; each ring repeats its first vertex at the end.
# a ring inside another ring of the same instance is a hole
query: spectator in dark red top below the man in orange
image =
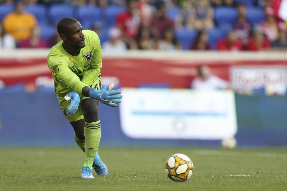
{"type": "Polygon", "coordinates": [[[33,28],[30,38],[22,41],[19,48],[47,48],[45,40],[41,38],[39,26],[33,28]]]}

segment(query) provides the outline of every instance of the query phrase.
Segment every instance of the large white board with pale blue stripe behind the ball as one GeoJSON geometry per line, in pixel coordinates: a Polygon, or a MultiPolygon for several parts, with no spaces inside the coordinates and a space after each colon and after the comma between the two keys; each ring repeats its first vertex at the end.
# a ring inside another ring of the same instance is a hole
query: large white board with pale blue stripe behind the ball
{"type": "Polygon", "coordinates": [[[123,88],[120,119],[130,138],[220,140],[237,132],[231,90],[123,88]]]}

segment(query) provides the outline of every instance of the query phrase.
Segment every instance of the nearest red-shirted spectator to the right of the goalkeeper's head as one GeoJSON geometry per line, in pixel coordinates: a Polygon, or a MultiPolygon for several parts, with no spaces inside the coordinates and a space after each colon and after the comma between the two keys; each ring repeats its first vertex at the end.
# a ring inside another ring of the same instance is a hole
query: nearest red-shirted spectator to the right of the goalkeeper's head
{"type": "Polygon", "coordinates": [[[116,19],[117,27],[122,31],[127,43],[129,43],[129,39],[134,39],[137,36],[140,23],[137,1],[129,0],[128,10],[120,13],[116,19]]]}

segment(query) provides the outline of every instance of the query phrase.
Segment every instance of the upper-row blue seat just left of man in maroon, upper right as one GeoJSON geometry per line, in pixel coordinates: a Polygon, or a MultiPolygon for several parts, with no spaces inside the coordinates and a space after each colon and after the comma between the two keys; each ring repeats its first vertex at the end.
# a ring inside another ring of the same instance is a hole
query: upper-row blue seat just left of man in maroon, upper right
{"type": "Polygon", "coordinates": [[[233,7],[216,7],[214,9],[214,19],[217,26],[233,24],[237,16],[237,10],[233,7]]]}

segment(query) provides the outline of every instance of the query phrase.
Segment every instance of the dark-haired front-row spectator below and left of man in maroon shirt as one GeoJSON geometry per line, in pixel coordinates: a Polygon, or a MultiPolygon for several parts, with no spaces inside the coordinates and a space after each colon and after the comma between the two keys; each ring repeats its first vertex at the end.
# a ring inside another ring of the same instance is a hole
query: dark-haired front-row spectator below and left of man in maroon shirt
{"type": "Polygon", "coordinates": [[[148,27],[141,27],[138,33],[138,48],[141,50],[157,49],[157,43],[152,39],[152,34],[148,27]]]}

